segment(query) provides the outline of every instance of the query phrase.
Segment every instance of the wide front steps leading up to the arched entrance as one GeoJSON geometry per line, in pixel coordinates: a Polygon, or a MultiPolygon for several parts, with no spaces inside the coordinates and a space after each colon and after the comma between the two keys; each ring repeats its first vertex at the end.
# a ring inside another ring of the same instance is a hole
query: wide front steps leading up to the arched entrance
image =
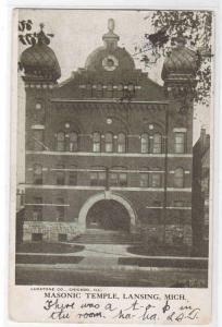
{"type": "Polygon", "coordinates": [[[138,234],[124,231],[106,231],[101,229],[88,229],[85,233],[73,240],[79,244],[138,244],[138,234]]]}

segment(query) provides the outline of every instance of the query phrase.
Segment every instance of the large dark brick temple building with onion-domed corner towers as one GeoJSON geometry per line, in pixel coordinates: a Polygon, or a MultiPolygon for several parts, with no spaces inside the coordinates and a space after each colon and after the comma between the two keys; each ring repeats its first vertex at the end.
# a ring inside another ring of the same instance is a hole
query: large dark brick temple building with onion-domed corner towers
{"type": "Polygon", "coordinates": [[[164,85],[135,68],[109,20],[103,45],[60,84],[42,31],[23,51],[26,90],[24,241],[62,241],[95,230],[192,245],[195,53],[183,40],[164,85]]]}

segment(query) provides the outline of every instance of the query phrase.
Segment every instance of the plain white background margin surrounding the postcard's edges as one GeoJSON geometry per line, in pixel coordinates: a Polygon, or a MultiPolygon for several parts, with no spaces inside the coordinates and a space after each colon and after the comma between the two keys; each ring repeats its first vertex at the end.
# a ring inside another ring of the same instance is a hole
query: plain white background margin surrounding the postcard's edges
{"type": "MultiPolygon", "coordinates": [[[[78,8],[78,9],[97,9],[98,7],[103,9],[210,9],[210,10],[219,10],[218,17],[217,17],[217,35],[215,35],[215,72],[220,71],[215,74],[215,98],[214,98],[214,135],[217,135],[214,140],[214,254],[213,254],[213,262],[214,262],[214,270],[213,270],[213,315],[214,319],[212,326],[222,326],[222,221],[221,221],[221,213],[222,213],[222,143],[219,144],[219,140],[222,137],[222,131],[220,129],[222,123],[222,113],[219,109],[219,94],[222,92],[222,86],[220,83],[221,76],[221,31],[222,31],[222,11],[221,5],[217,0],[126,0],[126,1],[73,1],[73,0],[45,0],[45,5],[39,5],[39,1],[36,0],[9,0],[1,2],[0,8],[0,33],[1,33],[1,85],[0,85],[0,121],[1,121],[1,129],[0,129],[0,140],[1,140],[1,160],[0,160],[0,240],[1,240],[1,270],[0,270],[0,280],[1,280],[1,290],[4,290],[4,294],[1,298],[0,307],[2,313],[0,314],[0,318],[2,319],[1,326],[27,326],[27,324],[16,324],[8,318],[8,308],[7,308],[7,295],[8,295],[8,243],[9,243],[9,179],[10,179],[10,155],[9,155],[9,144],[10,144],[10,70],[11,70],[11,19],[12,19],[12,9],[14,7],[33,7],[33,8],[78,8]],[[94,3],[94,4],[92,4],[94,3]],[[220,34],[219,35],[219,31],[220,34]],[[220,88],[219,88],[220,87],[220,88]],[[3,278],[2,278],[3,277],[3,278]],[[3,300],[3,301],[2,301],[3,300]],[[218,308],[218,310],[217,310],[218,308]],[[215,311],[218,311],[218,317],[215,316],[215,311]]],[[[39,324],[32,324],[32,326],[39,326],[39,324]]],[[[41,324],[40,326],[45,326],[41,324]]],[[[62,324],[48,324],[47,326],[64,326],[62,324]]],[[[87,326],[87,325],[85,325],[87,326]]],[[[159,325],[160,326],[160,325],[159,325]]]]}

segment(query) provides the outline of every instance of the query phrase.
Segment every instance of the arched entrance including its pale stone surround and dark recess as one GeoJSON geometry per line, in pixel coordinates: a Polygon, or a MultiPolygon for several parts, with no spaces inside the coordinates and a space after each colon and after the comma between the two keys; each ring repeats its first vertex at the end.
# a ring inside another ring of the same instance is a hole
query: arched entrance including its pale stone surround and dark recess
{"type": "Polygon", "coordinates": [[[89,197],[78,216],[82,230],[96,228],[132,231],[135,222],[136,215],[131,204],[109,191],[89,197]]]}

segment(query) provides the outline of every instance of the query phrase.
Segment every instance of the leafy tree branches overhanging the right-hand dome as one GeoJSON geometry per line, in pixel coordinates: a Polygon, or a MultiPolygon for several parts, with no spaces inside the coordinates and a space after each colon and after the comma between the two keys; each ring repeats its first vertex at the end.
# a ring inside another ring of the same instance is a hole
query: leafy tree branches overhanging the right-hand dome
{"type": "MultiPolygon", "coordinates": [[[[148,16],[145,17],[147,20],[148,16]]],[[[197,53],[197,85],[195,101],[209,105],[212,71],[212,12],[210,11],[155,11],[151,15],[153,34],[145,35],[145,45],[139,49],[141,61],[150,64],[150,56],[159,60],[169,56],[177,37],[184,37],[186,46],[197,53]]]]}

